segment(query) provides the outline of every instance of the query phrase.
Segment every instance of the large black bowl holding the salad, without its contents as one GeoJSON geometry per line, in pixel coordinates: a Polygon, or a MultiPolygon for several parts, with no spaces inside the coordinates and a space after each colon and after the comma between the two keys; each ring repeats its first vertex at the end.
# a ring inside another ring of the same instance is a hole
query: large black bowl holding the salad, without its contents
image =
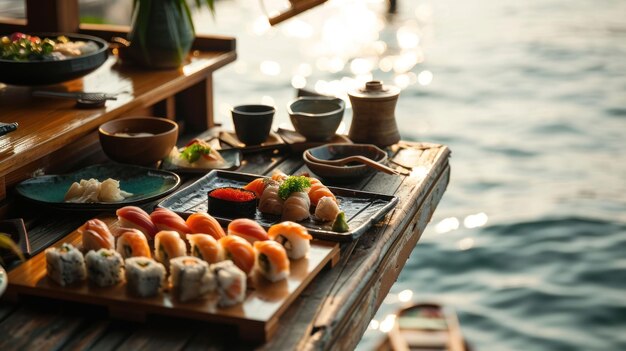
{"type": "Polygon", "coordinates": [[[0,59],[0,82],[13,85],[47,85],[80,78],[100,67],[108,55],[109,44],[98,38],[83,34],[33,33],[40,38],[56,38],[60,35],[71,41],[92,41],[98,51],[79,57],[58,61],[13,61],[0,59]]]}

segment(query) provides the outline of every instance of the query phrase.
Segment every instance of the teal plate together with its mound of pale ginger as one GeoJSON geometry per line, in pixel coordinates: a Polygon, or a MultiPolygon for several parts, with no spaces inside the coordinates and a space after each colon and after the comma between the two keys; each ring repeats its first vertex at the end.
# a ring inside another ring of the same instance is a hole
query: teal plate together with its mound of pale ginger
{"type": "Polygon", "coordinates": [[[57,209],[106,211],[154,201],[174,191],[180,177],[170,171],[122,165],[93,165],[69,174],[45,175],[19,183],[29,201],[57,209]]]}

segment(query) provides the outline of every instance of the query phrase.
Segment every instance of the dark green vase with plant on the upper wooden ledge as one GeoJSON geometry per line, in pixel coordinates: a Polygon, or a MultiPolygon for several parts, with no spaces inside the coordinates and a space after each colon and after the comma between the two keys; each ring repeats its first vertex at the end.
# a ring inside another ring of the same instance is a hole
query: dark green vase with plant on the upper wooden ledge
{"type": "MultiPolygon", "coordinates": [[[[214,0],[195,0],[215,12],[214,0]]],[[[152,68],[182,65],[195,39],[191,9],[186,0],[134,0],[130,57],[152,68]]]]}

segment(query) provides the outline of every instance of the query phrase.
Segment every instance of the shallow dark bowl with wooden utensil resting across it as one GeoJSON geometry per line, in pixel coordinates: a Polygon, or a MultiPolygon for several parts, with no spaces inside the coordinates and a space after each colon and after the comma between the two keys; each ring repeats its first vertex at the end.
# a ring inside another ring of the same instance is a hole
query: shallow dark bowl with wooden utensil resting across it
{"type": "Polygon", "coordinates": [[[371,144],[326,144],[306,150],[302,159],[309,169],[318,176],[326,179],[357,179],[367,176],[374,171],[364,164],[348,164],[346,166],[332,166],[318,163],[310,158],[313,155],[321,160],[337,160],[348,156],[365,156],[377,162],[385,162],[387,153],[371,144]]]}

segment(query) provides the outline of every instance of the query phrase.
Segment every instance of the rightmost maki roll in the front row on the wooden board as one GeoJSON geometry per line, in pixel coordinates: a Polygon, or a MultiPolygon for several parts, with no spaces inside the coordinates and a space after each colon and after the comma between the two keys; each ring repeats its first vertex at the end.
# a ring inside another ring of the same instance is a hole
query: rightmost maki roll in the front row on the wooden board
{"type": "Polygon", "coordinates": [[[219,306],[228,307],[243,302],[246,298],[246,273],[233,261],[212,264],[211,271],[215,275],[219,306]]]}

